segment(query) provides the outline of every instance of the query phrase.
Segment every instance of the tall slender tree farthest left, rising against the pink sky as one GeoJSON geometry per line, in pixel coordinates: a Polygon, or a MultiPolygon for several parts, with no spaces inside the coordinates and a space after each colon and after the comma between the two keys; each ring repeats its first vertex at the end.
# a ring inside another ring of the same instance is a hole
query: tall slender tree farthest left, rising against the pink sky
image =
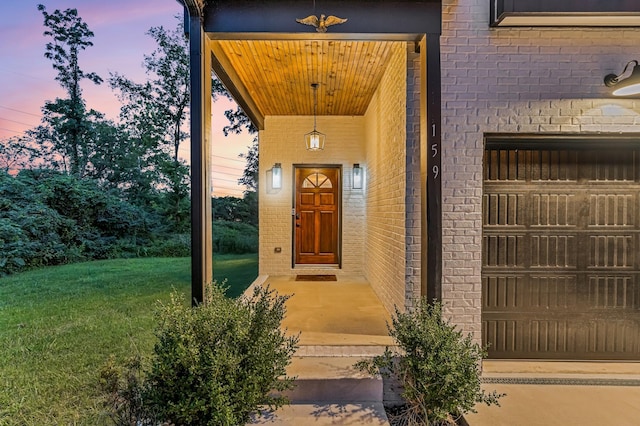
{"type": "Polygon", "coordinates": [[[80,88],[82,80],[95,84],[102,82],[96,73],[84,72],[79,66],[80,52],[93,46],[90,39],[94,34],[76,9],[63,12],[56,9],[50,14],[39,4],[38,10],[48,28],[44,35],[52,39],[46,45],[44,56],[52,61],[53,69],[58,73],[55,79],[68,97],[45,103],[42,125],[32,135],[41,144],[43,156],[48,156],[54,166],[82,177],[87,171],[93,145],[89,123],[102,119],[100,113],[86,110],[80,88]]]}

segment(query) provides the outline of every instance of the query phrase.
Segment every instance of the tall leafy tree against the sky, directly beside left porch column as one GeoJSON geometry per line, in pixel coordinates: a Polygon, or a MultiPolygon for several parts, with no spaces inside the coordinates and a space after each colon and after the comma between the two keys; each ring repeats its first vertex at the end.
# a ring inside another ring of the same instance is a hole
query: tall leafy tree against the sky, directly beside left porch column
{"type": "Polygon", "coordinates": [[[126,123],[135,145],[146,150],[139,158],[140,169],[152,177],[155,186],[166,187],[166,214],[177,229],[188,226],[187,165],[179,157],[181,143],[187,138],[183,131],[189,114],[188,43],[181,24],[174,31],[153,27],[148,32],[158,44],[144,57],[144,67],[151,76],[136,83],[113,73],[109,84],[119,91],[123,102],[120,119],[126,123]]]}

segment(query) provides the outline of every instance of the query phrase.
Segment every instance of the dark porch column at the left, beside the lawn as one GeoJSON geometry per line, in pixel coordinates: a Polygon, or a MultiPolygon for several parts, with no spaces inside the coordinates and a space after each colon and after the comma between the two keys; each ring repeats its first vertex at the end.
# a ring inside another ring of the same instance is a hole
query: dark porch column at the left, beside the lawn
{"type": "Polygon", "coordinates": [[[191,301],[204,300],[213,281],[211,235],[211,49],[201,17],[190,13],[191,68],[191,301]]]}

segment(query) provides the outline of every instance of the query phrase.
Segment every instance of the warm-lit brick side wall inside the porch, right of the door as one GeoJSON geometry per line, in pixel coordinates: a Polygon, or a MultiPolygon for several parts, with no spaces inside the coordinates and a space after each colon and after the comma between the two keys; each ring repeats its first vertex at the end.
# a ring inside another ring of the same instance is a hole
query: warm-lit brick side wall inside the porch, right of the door
{"type": "Polygon", "coordinates": [[[385,307],[405,306],[406,45],[398,43],[365,114],[365,274],[385,307]]]}

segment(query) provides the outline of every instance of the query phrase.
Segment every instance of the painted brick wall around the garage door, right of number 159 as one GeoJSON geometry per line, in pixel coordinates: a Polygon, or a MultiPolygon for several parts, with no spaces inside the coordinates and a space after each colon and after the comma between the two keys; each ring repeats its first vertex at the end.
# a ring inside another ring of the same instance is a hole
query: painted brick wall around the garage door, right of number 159
{"type": "Polygon", "coordinates": [[[488,15],[486,0],[443,1],[443,300],[476,339],[484,133],[640,130],[640,101],[603,84],[640,58],[640,29],[490,29],[488,15]]]}

